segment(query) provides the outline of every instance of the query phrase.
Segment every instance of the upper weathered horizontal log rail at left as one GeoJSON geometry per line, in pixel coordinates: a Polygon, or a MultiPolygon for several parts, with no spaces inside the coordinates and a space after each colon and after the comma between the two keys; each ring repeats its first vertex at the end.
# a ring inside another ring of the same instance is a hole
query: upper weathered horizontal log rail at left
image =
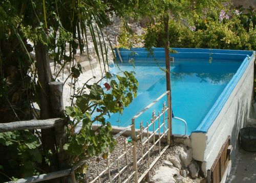
{"type": "Polygon", "coordinates": [[[23,129],[46,129],[63,122],[61,118],[0,123],[0,133],[23,129]]]}

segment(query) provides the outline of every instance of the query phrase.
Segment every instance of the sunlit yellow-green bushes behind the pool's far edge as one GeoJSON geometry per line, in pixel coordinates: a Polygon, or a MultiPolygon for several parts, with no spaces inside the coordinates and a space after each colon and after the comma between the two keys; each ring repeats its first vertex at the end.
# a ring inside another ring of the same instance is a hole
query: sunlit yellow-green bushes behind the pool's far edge
{"type": "MultiPolygon", "coordinates": [[[[219,10],[219,14],[221,15],[219,10]]],[[[170,47],[219,48],[219,49],[255,49],[256,31],[252,15],[236,10],[224,14],[220,19],[212,12],[206,15],[194,14],[194,25],[187,25],[181,20],[169,22],[170,47]],[[248,16],[245,18],[245,16],[248,16]],[[244,24],[244,19],[250,20],[244,24]],[[220,21],[221,20],[221,21],[220,21]]],[[[162,47],[162,28],[158,24],[148,27],[145,46],[162,47]],[[154,32],[154,33],[153,33],[154,32]]]]}

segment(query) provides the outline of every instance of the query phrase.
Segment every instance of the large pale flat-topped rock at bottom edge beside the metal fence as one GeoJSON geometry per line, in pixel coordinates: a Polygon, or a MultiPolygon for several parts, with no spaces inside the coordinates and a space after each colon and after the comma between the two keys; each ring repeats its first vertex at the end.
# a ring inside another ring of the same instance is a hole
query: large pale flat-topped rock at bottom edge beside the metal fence
{"type": "Polygon", "coordinates": [[[159,167],[156,170],[151,182],[154,183],[175,183],[176,179],[174,177],[180,176],[180,171],[178,168],[170,168],[166,166],[159,167]]]}

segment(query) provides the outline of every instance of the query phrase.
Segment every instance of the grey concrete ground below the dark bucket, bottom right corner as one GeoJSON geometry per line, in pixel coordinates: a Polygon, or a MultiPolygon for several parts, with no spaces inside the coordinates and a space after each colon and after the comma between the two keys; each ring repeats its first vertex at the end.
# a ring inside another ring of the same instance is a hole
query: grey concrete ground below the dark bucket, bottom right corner
{"type": "Polygon", "coordinates": [[[232,162],[232,169],[228,183],[256,182],[256,152],[247,152],[241,147],[236,160],[232,162]]]}

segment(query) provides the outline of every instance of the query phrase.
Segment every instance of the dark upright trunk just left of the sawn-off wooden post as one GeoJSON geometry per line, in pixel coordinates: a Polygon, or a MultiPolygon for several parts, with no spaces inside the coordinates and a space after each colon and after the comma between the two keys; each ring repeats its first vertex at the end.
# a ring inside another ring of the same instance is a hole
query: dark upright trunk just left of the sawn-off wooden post
{"type": "MultiPolygon", "coordinates": [[[[35,44],[35,56],[38,74],[40,119],[49,119],[52,118],[49,88],[49,83],[52,81],[52,73],[47,46],[37,42],[35,44]]],[[[50,166],[46,165],[47,172],[59,170],[54,133],[54,128],[41,129],[44,153],[48,154],[49,150],[52,152],[52,155],[49,156],[50,166]]],[[[55,180],[55,182],[57,181],[55,180]]]]}

